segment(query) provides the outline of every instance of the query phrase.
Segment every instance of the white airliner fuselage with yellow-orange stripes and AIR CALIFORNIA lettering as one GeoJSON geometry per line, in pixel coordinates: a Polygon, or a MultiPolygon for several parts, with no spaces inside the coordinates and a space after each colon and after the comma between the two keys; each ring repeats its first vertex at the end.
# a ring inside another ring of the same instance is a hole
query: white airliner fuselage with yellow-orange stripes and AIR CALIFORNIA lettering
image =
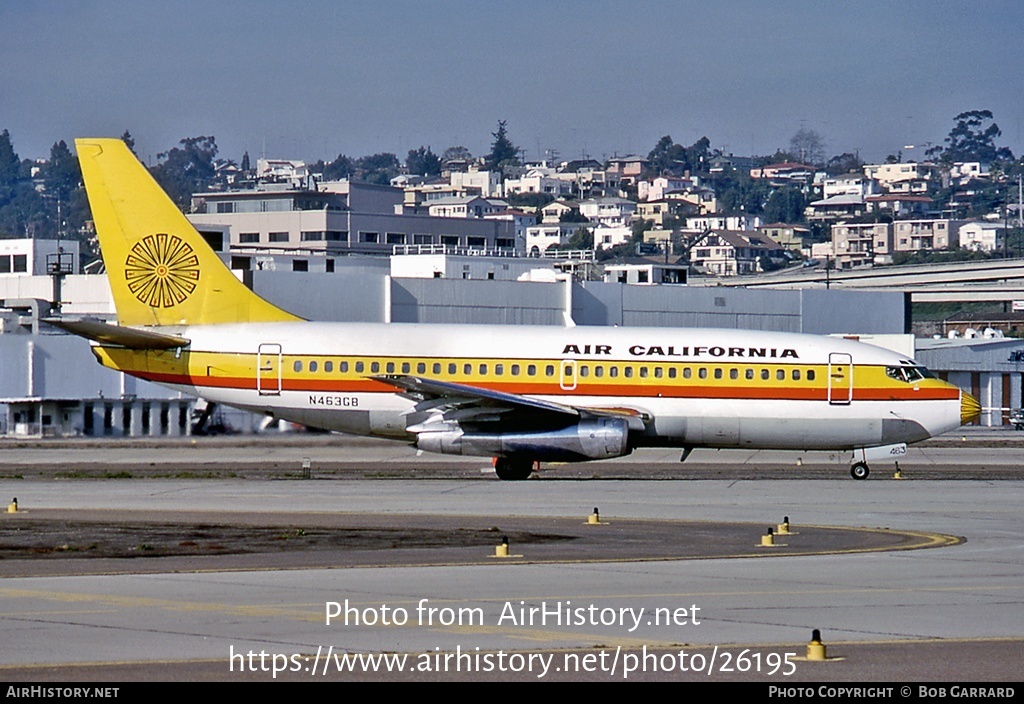
{"type": "MultiPolygon", "coordinates": [[[[955,387],[871,345],[724,329],[378,323],[173,328],[187,375],[132,371],[186,393],[328,430],[415,439],[417,401],[374,381],[410,375],[577,408],[625,408],[632,444],[850,449],[961,425],[955,387]]],[[[173,355],[163,352],[162,355],[173,355]]]]}

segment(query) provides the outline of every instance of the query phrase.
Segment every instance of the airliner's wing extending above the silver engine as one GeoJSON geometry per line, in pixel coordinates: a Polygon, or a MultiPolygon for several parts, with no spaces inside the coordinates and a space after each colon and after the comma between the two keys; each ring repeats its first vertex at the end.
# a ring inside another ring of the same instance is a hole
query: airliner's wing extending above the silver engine
{"type": "MultiPolygon", "coordinates": [[[[644,423],[649,420],[646,413],[634,408],[572,406],[422,377],[382,375],[373,379],[401,389],[403,396],[417,401],[414,412],[423,413],[421,419],[427,424],[441,421],[454,421],[462,425],[501,422],[505,428],[561,428],[578,423],[583,417],[599,415],[624,417],[632,429],[643,430],[644,423]]],[[[415,425],[409,428],[412,432],[425,429],[415,425]]]]}

